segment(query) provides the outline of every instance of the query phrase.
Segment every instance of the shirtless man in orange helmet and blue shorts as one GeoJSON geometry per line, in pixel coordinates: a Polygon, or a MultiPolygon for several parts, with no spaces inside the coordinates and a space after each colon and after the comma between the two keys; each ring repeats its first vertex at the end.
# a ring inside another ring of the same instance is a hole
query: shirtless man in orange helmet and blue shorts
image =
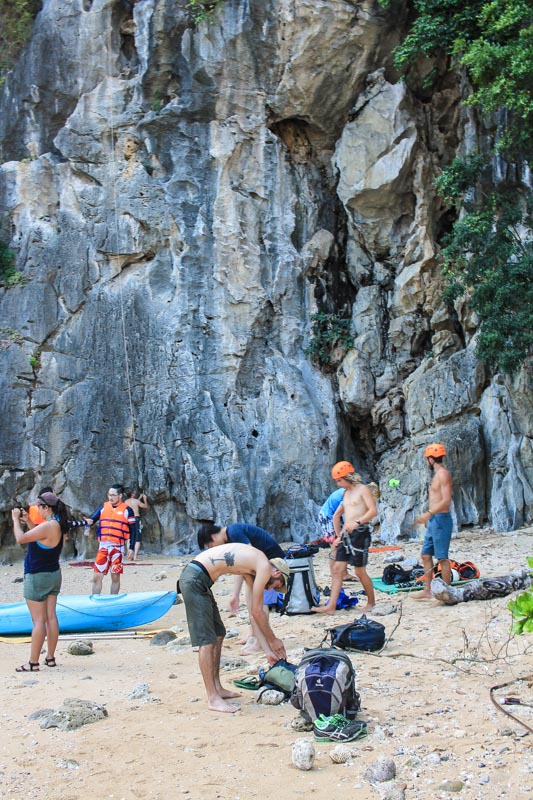
{"type": "Polygon", "coordinates": [[[426,523],[426,536],[422,545],[422,563],[424,565],[424,590],[413,595],[419,598],[432,598],[430,585],[433,579],[433,556],[440,564],[440,577],[445,583],[451,583],[451,569],[448,558],[452,536],[452,476],[442,463],[446,455],[443,444],[429,444],[424,450],[424,458],[433,473],[429,487],[429,511],[416,518],[419,523],[426,523]]]}

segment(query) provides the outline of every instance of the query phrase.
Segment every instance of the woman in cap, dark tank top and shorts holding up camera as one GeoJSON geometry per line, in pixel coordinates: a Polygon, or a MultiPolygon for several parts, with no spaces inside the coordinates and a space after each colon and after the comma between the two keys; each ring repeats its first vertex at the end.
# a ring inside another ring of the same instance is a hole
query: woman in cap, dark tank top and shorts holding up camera
{"type": "Polygon", "coordinates": [[[17,672],[39,671],[39,657],[45,638],[47,653],[44,663],[47,667],[56,666],[55,650],[59,638],[56,603],[61,589],[59,556],[68,528],[68,512],[65,504],[53,492],[40,494],[37,506],[44,522],[26,532],[20,523],[21,520],[27,522],[27,512],[20,508],[11,512],[15,539],[19,544],[28,545],[24,559],[24,599],[33,621],[30,660],[17,667],[17,672]]]}

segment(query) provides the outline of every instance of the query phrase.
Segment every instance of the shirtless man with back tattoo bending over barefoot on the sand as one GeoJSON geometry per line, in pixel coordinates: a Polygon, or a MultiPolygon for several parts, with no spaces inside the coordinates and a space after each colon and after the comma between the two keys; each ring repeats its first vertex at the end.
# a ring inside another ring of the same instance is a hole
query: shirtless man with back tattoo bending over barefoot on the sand
{"type": "Polygon", "coordinates": [[[287,591],[290,574],[282,558],[270,561],[260,550],[246,544],[222,544],[205,550],[191,561],[179,579],[180,592],[185,602],[187,624],[193,647],[199,647],[200,672],[207,692],[207,705],[211,711],[233,713],[237,703],[227,702],[238,697],[238,692],[225,689],[220,682],[220,655],[226,629],[220,617],[211,587],[221,575],[242,575],[252,591],[252,617],[264,649],[272,653],[268,660],[274,664],[286,658],[281,639],[273,633],[263,609],[263,590],[287,591]]]}

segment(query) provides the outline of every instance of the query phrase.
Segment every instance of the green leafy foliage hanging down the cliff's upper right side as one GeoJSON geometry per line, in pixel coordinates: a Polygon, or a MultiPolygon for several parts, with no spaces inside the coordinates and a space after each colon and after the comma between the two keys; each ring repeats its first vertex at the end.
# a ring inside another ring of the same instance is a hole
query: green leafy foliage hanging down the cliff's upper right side
{"type": "MultiPolygon", "coordinates": [[[[445,56],[450,69],[464,70],[466,104],[489,130],[496,123],[495,153],[519,176],[521,164],[533,163],[531,0],[411,0],[410,10],[397,67],[411,84],[420,59],[445,56]]],[[[429,73],[426,90],[436,77],[429,73]]],[[[487,188],[492,156],[455,159],[436,182],[457,210],[443,241],[445,299],[467,299],[480,321],[478,356],[512,373],[533,352],[533,198],[519,177],[487,188]]]]}

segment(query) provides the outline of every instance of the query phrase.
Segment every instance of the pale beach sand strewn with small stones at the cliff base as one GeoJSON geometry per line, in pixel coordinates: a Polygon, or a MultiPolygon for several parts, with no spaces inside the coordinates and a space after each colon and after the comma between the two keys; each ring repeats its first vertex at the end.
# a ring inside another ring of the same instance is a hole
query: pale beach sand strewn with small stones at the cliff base
{"type": "MultiPolygon", "coordinates": [[[[418,555],[419,542],[404,547],[418,555]]],[[[482,576],[521,568],[533,553],[533,528],[514,533],[466,530],[454,539],[451,557],[474,561],[482,576]]],[[[370,557],[369,572],[381,575],[384,553],[370,557]]],[[[127,566],[125,591],[175,588],[186,563],[183,557],[147,554],[151,566],[127,566]],[[161,578],[162,573],[166,577],[161,578]]],[[[327,554],[315,559],[318,583],[328,584],[327,554]]],[[[22,564],[0,566],[0,600],[22,599],[14,583],[22,564]]],[[[89,591],[91,570],[63,566],[65,594],[89,591]]],[[[229,618],[226,611],[230,579],[215,585],[215,594],[229,628],[246,630],[245,615],[229,618]]],[[[355,587],[356,588],[356,587],[355,587]]],[[[348,591],[353,584],[346,584],[348,591]]],[[[109,591],[105,579],[104,591],[109,591]]],[[[56,669],[16,674],[27,661],[29,645],[0,643],[2,800],[246,800],[304,796],[366,798],[533,798],[533,736],[498,711],[489,690],[495,684],[533,673],[533,638],[509,640],[508,598],[447,607],[437,601],[378,594],[379,605],[392,602],[399,611],[379,617],[392,640],[381,655],[352,654],[369,735],[354,742],[346,764],[330,758],[333,744],[315,744],[311,771],[297,770],[291,759],[294,741],[312,733],[291,727],[297,712],[288,703],[263,706],[255,693],[243,691],[235,715],[208,711],[192,650],[176,654],[154,647],[143,637],[93,637],[94,654],[67,653],[70,640],[59,643],[56,669]],[[400,613],[401,612],[401,613],[400,613]],[[398,624],[399,623],[399,624],[398,624]],[[149,685],[150,702],[131,700],[141,683],[149,685]],[[104,704],[108,717],[75,731],[43,730],[29,715],[59,708],[66,698],[104,704]],[[394,783],[373,786],[364,777],[382,757],[392,758],[394,783]],[[445,781],[456,782],[451,791],[445,781]],[[460,782],[462,787],[457,784],[460,782]]],[[[274,630],[283,638],[289,659],[297,661],[303,647],[316,647],[324,630],[359,616],[356,609],[335,617],[273,615],[274,630]]],[[[378,617],[376,617],[378,619],[378,617]]],[[[185,635],[183,605],[176,605],[153,630],[178,627],[185,635]]],[[[75,637],[79,638],[79,637],[75,637]]],[[[238,657],[240,646],[228,639],[223,655],[238,657]]],[[[246,659],[248,668],[224,672],[234,678],[257,675],[265,665],[260,656],[246,659]]],[[[530,679],[530,684],[531,684],[530,679]]],[[[527,681],[497,693],[500,699],[519,697],[533,703],[527,681]]],[[[533,727],[530,706],[505,706],[533,727]]]]}

